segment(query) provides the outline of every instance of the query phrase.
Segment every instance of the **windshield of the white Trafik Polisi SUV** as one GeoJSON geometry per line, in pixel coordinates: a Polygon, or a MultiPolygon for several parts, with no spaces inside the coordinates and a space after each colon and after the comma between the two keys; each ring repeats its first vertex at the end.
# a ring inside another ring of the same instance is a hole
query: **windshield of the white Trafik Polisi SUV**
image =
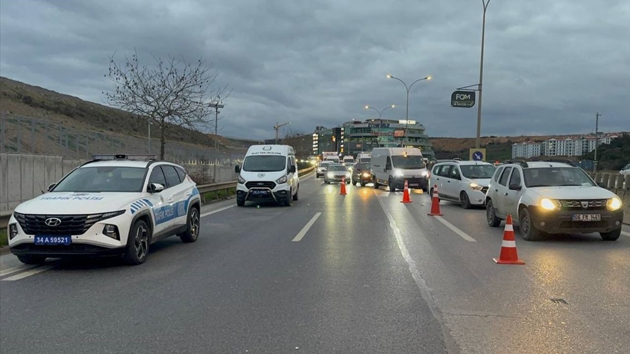
{"type": "Polygon", "coordinates": [[[52,191],[140,192],[145,168],[123,166],[82,167],[75,169],[52,191]]]}

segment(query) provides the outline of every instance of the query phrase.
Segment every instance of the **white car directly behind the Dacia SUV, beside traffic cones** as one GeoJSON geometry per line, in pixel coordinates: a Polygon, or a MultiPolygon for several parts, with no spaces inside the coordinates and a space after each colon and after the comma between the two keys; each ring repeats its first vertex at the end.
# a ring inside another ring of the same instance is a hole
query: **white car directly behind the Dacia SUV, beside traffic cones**
{"type": "Polygon", "coordinates": [[[484,205],[495,171],[493,164],[484,161],[438,161],[429,178],[429,195],[433,195],[433,187],[437,185],[440,199],[460,203],[464,209],[484,205]]]}

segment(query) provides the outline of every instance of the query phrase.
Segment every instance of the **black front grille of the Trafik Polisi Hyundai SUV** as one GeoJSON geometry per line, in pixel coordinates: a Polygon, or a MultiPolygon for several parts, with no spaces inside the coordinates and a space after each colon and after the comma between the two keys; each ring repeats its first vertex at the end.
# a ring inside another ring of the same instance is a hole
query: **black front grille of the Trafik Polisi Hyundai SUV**
{"type": "Polygon", "coordinates": [[[81,235],[95,224],[99,217],[91,215],[42,215],[42,214],[18,214],[14,217],[20,226],[29,235],[81,235]],[[61,220],[57,226],[49,226],[46,220],[57,218],[61,220]]]}

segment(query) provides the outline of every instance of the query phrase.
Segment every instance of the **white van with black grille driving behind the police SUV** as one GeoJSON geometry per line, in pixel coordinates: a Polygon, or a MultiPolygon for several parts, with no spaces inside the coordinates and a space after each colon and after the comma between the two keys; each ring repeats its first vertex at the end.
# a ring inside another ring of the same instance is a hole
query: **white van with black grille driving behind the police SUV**
{"type": "Polygon", "coordinates": [[[250,146],[243,167],[235,166],[238,173],[236,205],[245,202],[275,201],[289,206],[297,200],[300,181],[297,178],[295,150],[288,145],[250,146]]]}

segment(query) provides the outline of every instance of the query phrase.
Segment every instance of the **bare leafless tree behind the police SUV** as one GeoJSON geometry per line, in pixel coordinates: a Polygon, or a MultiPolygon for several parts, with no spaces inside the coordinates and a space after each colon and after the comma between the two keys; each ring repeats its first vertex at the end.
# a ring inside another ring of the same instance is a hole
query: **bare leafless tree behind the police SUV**
{"type": "Polygon", "coordinates": [[[226,98],[227,86],[214,88],[219,73],[212,63],[199,59],[153,57],[154,66],[140,65],[138,55],[125,56],[118,64],[110,57],[109,77],[115,91],[103,92],[112,106],[146,117],[159,128],[160,153],[164,159],[166,130],[186,127],[197,130],[212,120],[209,103],[226,98]]]}

